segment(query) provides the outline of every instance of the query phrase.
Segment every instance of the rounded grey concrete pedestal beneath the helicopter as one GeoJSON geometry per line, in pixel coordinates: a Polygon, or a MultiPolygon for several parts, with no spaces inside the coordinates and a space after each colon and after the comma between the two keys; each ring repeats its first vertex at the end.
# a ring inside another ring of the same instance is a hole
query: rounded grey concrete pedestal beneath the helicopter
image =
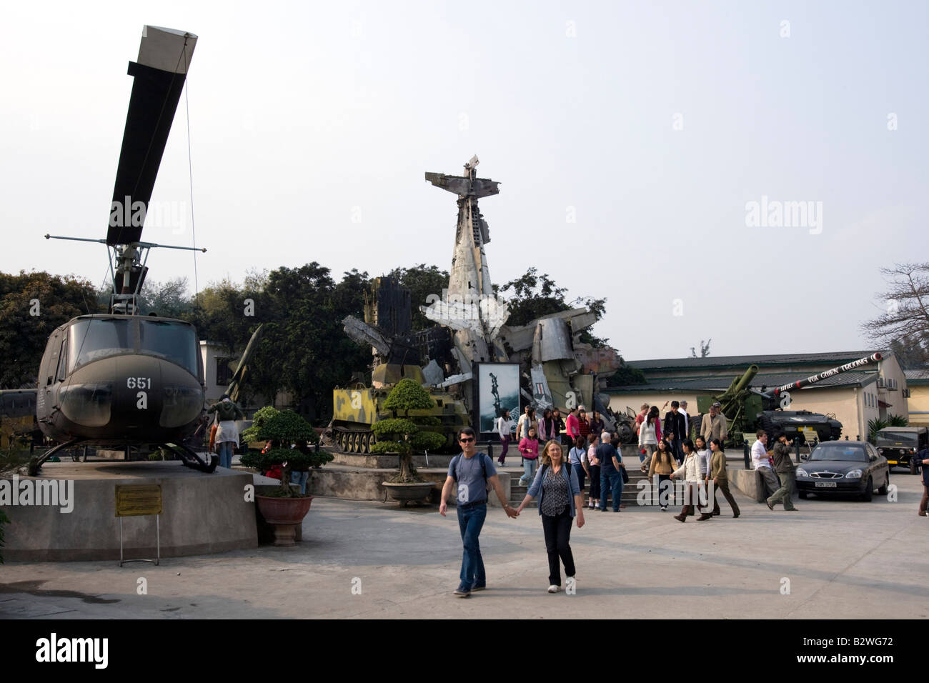
{"type": "MultiPolygon", "coordinates": [[[[3,556],[9,562],[119,559],[116,485],[161,484],[161,556],[173,558],[255,548],[255,503],[245,501],[247,472],[219,467],[205,474],[177,461],[46,463],[40,477],[66,481],[73,509],[7,505],[3,556]]],[[[155,518],[123,518],[124,557],[155,557],[155,518]]]]}

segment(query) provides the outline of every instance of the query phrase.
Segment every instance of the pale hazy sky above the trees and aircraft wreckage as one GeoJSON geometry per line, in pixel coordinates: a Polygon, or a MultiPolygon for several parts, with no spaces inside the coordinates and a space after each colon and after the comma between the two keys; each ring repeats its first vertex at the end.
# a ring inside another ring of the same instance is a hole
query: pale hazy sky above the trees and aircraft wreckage
{"type": "MultiPolygon", "coordinates": [[[[201,287],[312,260],[336,279],[448,269],[455,200],[423,174],[477,153],[502,183],[481,201],[493,282],[535,266],[607,296],[595,333],[626,359],[708,337],[713,355],[866,348],[879,269],[929,260],[927,17],[923,2],[5,3],[0,270],[104,282],[102,245],[42,236],[105,236],[126,64],[150,24],[199,36],[201,287]],[[758,225],[752,202],[812,211],[758,225]]],[[[144,240],[193,240],[186,112],[182,97],[152,197],[177,220],[144,240]]],[[[193,261],[153,251],[150,279],[192,289],[193,261]]]]}

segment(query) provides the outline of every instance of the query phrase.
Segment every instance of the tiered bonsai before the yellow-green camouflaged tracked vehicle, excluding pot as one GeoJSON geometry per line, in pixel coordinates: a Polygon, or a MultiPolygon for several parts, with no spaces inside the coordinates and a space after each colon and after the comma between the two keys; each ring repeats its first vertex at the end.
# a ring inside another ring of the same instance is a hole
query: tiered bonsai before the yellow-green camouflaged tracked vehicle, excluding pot
{"type": "Polygon", "coordinates": [[[438,417],[410,417],[410,411],[435,408],[435,402],[428,390],[407,377],[390,390],[384,407],[392,411],[394,417],[374,423],[372,430],[377,436],[377,443],[372,446],[371,452],[399,453],[399,471],[387,481],[403,484],[423,481],[412,466],[413,451],[435,450],[445,443],[445,439],[436,432],[420,430],[421,426],[440,425],[438,417]],[[402,417],[396,416],[399,411],[403,412],[402,417]]]}

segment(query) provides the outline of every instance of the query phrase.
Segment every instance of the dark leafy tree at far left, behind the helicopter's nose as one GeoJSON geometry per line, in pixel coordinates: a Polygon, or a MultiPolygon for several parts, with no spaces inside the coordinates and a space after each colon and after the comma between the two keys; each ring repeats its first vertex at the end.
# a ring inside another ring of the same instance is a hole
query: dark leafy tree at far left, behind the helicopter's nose
{"type": "Polygon", "coordinates": [[[44,270],[0,272],[0,388],[34,387],[48,335],[72,318],[104,310],[86,280],[44,270]]]}

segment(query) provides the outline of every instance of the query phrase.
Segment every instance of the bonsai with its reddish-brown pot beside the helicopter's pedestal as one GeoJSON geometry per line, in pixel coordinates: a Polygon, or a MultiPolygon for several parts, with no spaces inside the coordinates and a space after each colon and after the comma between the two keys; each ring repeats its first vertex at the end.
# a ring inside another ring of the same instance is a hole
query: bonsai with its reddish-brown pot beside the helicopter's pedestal
{"type": "Polygon", "coordinates": [[[274,545],[294,545],[295,527],[301,524],[313,502],[313,496],[301,494],[290,484],[291,470],[300,466],[316,467],[333,460],[325,451],[301,451],[291,444],[302,441],[315,444],[316,430],[292,410],[279,411],[265,406],[255,413],[255,421],[242,436],[246,441],[269,441],[261,452],[249,451],[242,455],[242,465],[266,470],[281,467],[281,486],[276,491],[255,495],[255,503],[262,516],[274,526],[274,545]]]}

